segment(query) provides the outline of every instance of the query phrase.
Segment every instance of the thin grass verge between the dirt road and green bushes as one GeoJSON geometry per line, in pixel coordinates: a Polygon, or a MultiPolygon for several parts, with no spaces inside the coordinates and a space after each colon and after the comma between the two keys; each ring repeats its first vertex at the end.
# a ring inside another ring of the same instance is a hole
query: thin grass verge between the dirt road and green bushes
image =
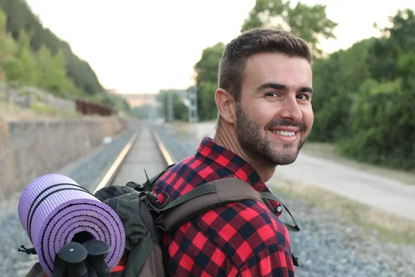
{"type": "Polygon", "coordinates": [[[301,151],[304,154],[336,161],[338,163],[344,164],[345,166],[350,166],[351,168],[357,168],[358,170],[371,172],[376,175],[388,177],[391,179],[396,179],[398,181],[402,181],[405,184],[415,186],[415,172],[406,172],[402,170],[385,168],[382,166],[374,166],[369,163],[361,163],[347,157],[342,157],[336,149],[335,145],[329,143],[307,142],[301,151]]]}

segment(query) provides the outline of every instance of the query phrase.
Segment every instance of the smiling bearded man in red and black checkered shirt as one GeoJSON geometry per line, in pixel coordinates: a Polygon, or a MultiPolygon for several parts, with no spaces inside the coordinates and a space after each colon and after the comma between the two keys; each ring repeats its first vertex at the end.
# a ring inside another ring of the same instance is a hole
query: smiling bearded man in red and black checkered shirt
{"type": "MultiPolygon", "coordinates": [[[[160,202],[225,177],[258,192],[275,168],[293,163],[313,125],[311,50],[291,33],[257,28],[233,39],[219,66],[216,134],[158,179],[160,202]]],[[[282,205],[219,206],[163,234],[169,276],[294,276],[282,205]]]]}

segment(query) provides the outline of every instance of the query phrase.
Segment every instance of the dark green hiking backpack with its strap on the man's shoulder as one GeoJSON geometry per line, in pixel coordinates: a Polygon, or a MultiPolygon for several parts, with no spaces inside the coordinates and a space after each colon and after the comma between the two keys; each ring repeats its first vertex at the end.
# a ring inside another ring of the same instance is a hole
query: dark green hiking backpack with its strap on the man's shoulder
{"type": "MultiPolygon", "coordinates": [[[[174,231],[196,215],[231,202],[252,199],[267,204],[268,199],[271,199],[282,204],[275,195],[259,193],[245,181],[228,177],[197,186],[172,202],[166,199],[165,204],[162,205],[158,202],[157,195],[152,193],[152,189],[157,179],[171,166],[151,179],[148,178],[146,172],[147,181],[145,184],[130,181],[125,186],[109,186],[95,193],[95,197],[116,211],[124,225],[126,238],[124,255],[120,265],[113,271],[109,272],[108,268],[102,269],[106,265],[101,262],[100,269],[93,271],[93,268],[97,268],[96,265],[88,267],[88,273],[82,277],[169,276],[164,269],[160,246],[162,233],[174,231]]],[[[284,206],[284,208],[286,207],[284,206]]],[[[287,208],[286,211],[288,211],[287,208]]],[[[288,213],[291,215],[289,211],[288,213]]],[[[290,231],[297,232],[299,228],[294,218],[293,221],[295,225],[285,223],[286,227],[290,231]]],[[[295,256],[293,256],[293,261],[297,266],[295,256]]],[[[35,265],[33,273],[27,276],[45,276],[37,274],[39,274],[39,265],[35,265]]],[[[62,275],[62,277],[66,276],[68,275],[62,275]]],[[[55,275],[49,277],[55,277],[55,275]]]]}

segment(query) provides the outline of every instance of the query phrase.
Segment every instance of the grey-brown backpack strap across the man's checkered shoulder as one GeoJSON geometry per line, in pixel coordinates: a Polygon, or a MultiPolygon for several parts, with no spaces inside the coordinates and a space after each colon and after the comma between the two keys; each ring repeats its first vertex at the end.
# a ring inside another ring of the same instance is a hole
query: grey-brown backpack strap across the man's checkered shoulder
{"type": "MultiPolygon", "coordinates": [[[[157,218],[155,224],[162,231],[172,231],[196,215],[224,204],[245,199],[255,200],[262,204],[264,204],[263,199],[273,199],[281,203],[278,197],[272,193],[259,193],[245,181],[236,177],[227,177],[197,186],[163,208],[155,208],[156,211],[163,212],[157,218]]],[[[284,206],[284,208],[286,207],[284,206]]],[[[287,229],[299,231],[296,223],[295,226],[288,224],[287,229]]]]}

